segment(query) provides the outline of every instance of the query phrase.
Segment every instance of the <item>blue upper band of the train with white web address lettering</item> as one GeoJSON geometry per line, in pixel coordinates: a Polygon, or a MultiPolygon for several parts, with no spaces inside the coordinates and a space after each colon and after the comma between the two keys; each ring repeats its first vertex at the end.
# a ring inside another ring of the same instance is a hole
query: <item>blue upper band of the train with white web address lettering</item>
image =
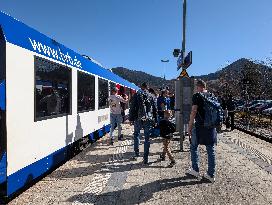
{"type": "Polygon", "coordinates": [[[86,59],[75,51],[58,43],[54,39],[38,32],[17,19],[0,11],[0,26],[6,42],[20,46],[53,60],[77,67],[94,75],[114,81],[126,87],[139,88],[110,70],[107,70],[92,58],[86,59]]]}

